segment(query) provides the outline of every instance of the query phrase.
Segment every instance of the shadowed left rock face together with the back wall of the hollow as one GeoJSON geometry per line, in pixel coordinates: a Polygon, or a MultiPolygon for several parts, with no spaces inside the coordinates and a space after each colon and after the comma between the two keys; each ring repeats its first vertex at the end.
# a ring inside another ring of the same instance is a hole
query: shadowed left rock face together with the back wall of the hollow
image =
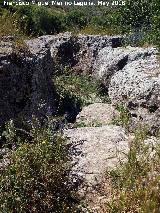
{"type": "Polygon", "coordinates": [[[64,33],[26,41],[27,54],[15,53],[14,38],[0,43],[0,125],[22,115],[31,119],[54,115],[54,73],[69,66],[77,73],[91,72],[98,52],[121,45],[120,36],[73,36],[64,33]]]}

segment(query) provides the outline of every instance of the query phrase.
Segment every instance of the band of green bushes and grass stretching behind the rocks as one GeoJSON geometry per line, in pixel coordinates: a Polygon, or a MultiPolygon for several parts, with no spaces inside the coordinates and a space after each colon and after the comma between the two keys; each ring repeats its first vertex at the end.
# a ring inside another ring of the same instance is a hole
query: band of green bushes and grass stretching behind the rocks
{"type": "MultiPolygon", "coordinates": [[[[113,8],[3,6],[0,9],[0,34],[5,34],[3,29],[11,21],[14,28],[10,34],[20,32],[28,36],[38,36],[63,31],[94,34],[138,32],[144,42],[157,44],[160,38],[159,8],[158,0],[127,0],[125,6],[113,8]]],[[[6,29],[6,34],[10,29],[6,29]]]]}

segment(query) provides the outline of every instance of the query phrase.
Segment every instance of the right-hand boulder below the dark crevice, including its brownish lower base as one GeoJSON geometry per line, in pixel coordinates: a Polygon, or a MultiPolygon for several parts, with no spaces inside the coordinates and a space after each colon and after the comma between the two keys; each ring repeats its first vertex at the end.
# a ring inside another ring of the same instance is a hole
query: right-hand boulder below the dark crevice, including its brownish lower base
{"type": "Polygon", "coordinates": [[[152,130],[160,126],[159,63],[155,49],[136,49],[124,68],[111,77],[109,96],[113,104],[128,107],[133,115],[131,129],[141,124],[152,130]]]}

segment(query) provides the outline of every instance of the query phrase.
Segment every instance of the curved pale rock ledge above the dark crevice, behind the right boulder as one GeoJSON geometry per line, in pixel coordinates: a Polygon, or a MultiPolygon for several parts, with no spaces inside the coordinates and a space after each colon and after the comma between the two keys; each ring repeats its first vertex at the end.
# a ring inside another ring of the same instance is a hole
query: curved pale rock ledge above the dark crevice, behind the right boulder
{"type": "MultiPolygon", "coordinates": [[[[154,48],[139,48],[139,47],[106,47],[103,48],[95,61],[94,64],[94,75],[103,81],[103,83],[108,87],[111,77],[117,73],[119,70],[123,70],[126,65],[130,67],[129,64],[139,62],[143,63],[146,59],[152,60],[155,56],[154,48]]],[[[148,63],[148,66],[152,66],[153,60],[148,63]]],[[[134,67],[134,65],[133,65],[134,67]]],[[[146,67],[147,68],[147,67],[146,67]]],[[[148,67],[149,68],[149,67],[148,67]]]]}

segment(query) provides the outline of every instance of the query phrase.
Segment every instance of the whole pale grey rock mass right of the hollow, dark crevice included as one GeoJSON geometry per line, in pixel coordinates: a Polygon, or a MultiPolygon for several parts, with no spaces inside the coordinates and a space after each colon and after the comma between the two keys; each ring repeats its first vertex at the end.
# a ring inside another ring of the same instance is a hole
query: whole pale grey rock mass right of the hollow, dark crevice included
{"type": "Polygon", "coordinates": [[[160,68],[155,48],[104,48],[94,64],[112,104],[124,104],[131,112],[130,129],[160,126],[160,68]]]}

